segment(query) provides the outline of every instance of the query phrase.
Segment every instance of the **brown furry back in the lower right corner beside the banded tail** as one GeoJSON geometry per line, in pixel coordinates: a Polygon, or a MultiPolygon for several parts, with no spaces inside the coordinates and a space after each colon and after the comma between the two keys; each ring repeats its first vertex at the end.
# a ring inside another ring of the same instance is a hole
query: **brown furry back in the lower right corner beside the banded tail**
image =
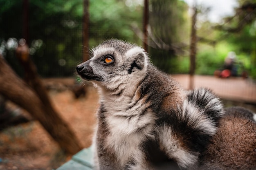
{"type": "Polygon", "coordinates": [[[254,113],[241,107],[226,110],[201,161],[202,170],[256,170],[254,113]]]}

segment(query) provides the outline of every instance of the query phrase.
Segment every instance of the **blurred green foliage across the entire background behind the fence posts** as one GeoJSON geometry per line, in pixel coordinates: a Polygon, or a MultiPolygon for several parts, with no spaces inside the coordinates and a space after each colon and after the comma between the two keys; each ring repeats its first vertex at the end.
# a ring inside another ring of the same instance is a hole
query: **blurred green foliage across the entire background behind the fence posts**
{"type": "MultiPolygon", "coordinates": [[[[152,62],[167,73],[189,73],[191,15],[183,0],[150,0],[149,24],[152,35],[163,44],[177,47],[149,47],[152,62]],[[177,49],[180,49],[180,51],[177,49]]],[[[238,0],[240,5],[248,0],[238,0]]],[[[250,0],[256,3],[256,0],[250,0]]],[[[142,45],[131,25],[142,30],[144,0],[90,0],[90,43],[82,46],[83,0],[29,1],[29,40],[31,57],[43,77],[72,76],[82,60],[82,52],[103,40],[117,38],[142,45]]],[[[200,18],[207,16],[201,10],[200,18]]],[[[254,10],[255,12],[255,10],[254,10]]],[[[243,16],[240,16],[243,20],[243,16]]],[[[237,26],[241,20],[225,22],[237,26]]],[[[14,49],[22,38],[22,0],[0,0],[0,53],[22,75],[14,49]]],[[[243,70],[256,78],[256,21],[239,32],[212,29],[213,23],[198,20],[198,36],[216,41],[198,42],[196,73],[213,75],[222,69],[229,51],[237,54],[240,74],[243,70]]]]}

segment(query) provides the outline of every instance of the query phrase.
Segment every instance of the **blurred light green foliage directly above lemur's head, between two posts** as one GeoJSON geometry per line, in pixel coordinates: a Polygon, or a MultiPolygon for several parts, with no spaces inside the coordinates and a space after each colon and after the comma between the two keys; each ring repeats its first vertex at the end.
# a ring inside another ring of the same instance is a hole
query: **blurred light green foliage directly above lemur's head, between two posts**
{"type": "Polygon", "coordinates": [[[91,0],[90,46],[110,38],[138,42],[139,38],[132,31],[131,24],[141,25],[142,5],[135,0],[126,3],[119,0],[91,0]]]}

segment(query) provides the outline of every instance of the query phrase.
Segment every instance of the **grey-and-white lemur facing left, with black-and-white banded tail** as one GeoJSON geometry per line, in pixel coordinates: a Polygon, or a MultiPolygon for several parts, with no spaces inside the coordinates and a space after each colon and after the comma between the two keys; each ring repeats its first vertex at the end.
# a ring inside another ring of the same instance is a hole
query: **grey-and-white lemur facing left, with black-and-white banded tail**
{"type": "Polygon", "coordinates": [[[207,149],[215,147],[225,117],[216,95],[205,88],[183,90],[135,44],[111,39],[92,53],[76,70],[99,89],[95,170],[214,166],[207,149]]]}

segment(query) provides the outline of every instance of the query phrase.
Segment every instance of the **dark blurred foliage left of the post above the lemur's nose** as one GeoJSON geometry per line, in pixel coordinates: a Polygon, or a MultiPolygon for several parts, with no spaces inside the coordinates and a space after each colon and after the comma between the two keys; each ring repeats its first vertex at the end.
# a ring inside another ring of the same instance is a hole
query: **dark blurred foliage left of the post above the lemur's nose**
{"type": "MultiPolygon", "coordinates": [[[[22,1],[0,1],[0,38],[7,42],[6,59],[19,74],[20,68],[10,49],[10,40],[22,37],[22,1]]],[[[30,54],[42,76],[67,76],[81,60],[80,0],[29,1],[30,54]]]]}

